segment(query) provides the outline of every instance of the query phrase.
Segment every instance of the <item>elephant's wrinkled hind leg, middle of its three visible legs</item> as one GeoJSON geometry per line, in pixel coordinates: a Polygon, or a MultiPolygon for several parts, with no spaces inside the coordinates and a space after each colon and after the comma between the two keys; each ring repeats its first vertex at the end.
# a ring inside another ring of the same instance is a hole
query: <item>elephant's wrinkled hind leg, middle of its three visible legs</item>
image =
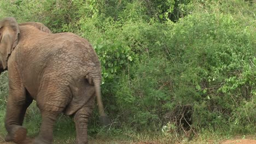
{"type": "Polygon", "coordinates": [[[53,127],[57,116],[65,109],[67,91],[63,87],[49,84],[50,88],[43,88],[37,95],[37,105],[42,115],[39,135],[33,144],[50,144],[53,142],[53,127]]]}

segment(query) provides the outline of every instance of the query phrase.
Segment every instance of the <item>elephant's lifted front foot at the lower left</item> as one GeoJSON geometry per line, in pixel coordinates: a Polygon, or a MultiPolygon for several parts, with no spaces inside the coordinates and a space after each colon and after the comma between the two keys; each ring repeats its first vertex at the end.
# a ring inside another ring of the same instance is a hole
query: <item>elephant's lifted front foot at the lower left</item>
{"type": "Polygon", "coordinates": [[[27,129],[17,125],[11,131],[11,134],[7,134],[5,137],[5,141],[14,141],[16,143],[22,143],[22,141],[26,140],[27,137],[27,129]]]}

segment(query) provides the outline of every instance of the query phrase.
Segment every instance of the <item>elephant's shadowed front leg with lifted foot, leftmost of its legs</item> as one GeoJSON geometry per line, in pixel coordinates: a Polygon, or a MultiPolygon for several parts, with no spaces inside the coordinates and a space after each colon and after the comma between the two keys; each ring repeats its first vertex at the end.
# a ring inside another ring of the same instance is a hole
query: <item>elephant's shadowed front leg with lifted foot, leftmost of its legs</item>
{"type": "Polygon", "coordinates": [[[27,130],[21,125],[26,109],[31,103],[32,99],[26,98],[25,90],[10,89],[7,101],[7,112],[5,115],[5,128],[8,132],[5,141],[20,143],[26,139],[27,130]]]}

